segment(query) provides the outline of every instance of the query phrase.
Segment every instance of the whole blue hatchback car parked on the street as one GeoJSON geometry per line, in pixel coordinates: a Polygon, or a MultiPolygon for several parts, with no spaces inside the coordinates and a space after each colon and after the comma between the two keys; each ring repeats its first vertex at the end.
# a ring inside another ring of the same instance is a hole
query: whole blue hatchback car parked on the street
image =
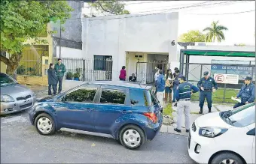
{"type": "Polygon", "coordinates": [[[130,149],[152,140],[163,123],[152,88],[130,82],[86,82],[38,100],[29,119],[41,135],[61,128],[105,133],[130,149]]]}

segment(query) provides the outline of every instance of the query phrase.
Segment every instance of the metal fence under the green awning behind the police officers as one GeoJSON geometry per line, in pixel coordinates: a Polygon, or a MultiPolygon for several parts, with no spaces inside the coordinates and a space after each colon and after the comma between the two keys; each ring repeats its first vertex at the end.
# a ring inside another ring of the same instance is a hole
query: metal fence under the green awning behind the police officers
{"type": "MultiPolygon", "coordinates": [[[[188,82],[197,86],[197,82],[203,77],[203,72],[209,71],[210,76],[214,77],[215,73],[236,74],[239,75],[238,84],[221,84],[218,83],[218,91],[212,94],[212,100],[215,103],[236,103],[231,97],[236,97],[239,89],[244,84],[246,76],[251,76],[255,84],[255,65],[251,64],[200,64],[200,63],[183,63],[181,64],[181,73],[186,76],[188,82]],[[223,67],[223,70],[216,69],[223,67]],[[241,73],[241,70],[247,70],[241,73]],[[247,73],[247,74],[246,74],[247,73]]],[[[199,93],[192,95],[192,100],[199,100],[199,93]]]]}

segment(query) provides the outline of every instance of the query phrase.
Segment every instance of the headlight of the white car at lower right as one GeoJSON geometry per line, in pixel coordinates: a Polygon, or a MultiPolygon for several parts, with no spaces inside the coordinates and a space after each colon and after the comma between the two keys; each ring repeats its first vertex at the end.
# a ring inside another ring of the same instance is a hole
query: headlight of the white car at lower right
{"type": "Polygon", "coordinates": [[[227,132],[227,129],[221,127],[200,127],[199,135],[209,138],[215,138],[227,132]]]}

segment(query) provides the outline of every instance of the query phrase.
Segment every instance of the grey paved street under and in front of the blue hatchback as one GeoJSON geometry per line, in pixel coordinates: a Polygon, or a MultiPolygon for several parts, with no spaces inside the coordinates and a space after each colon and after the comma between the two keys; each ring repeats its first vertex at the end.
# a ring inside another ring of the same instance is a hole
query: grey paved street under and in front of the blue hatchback
{"type": "Polygon", "coordinates": [[[114,139],[59,132],[39,135],[26,112],[1,118],[1,163],[193,163],[186,136],[160,133],[137,151],[114,139]]]}

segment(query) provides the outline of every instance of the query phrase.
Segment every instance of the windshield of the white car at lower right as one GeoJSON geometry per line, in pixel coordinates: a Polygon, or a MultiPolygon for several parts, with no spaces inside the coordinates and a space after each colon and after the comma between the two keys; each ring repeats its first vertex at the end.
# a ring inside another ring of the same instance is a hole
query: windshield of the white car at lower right
{"type": "Polygon", "coordinates": [[[234,127],[246,127],[255,122],[255,103],[224,112],[223,118],[234,127]]]}

